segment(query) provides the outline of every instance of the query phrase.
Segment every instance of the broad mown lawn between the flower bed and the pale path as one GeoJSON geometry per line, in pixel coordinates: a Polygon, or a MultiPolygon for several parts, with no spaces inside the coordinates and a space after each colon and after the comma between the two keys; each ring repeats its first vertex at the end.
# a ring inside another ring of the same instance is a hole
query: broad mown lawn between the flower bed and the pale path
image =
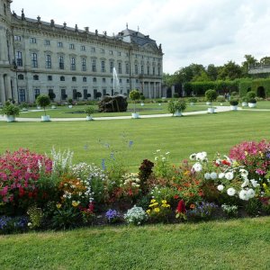
{"type": "Polygon", "coordinates": [[[198,151],[212,157],[217,151],[243,140],[269,139],[269,112],[222,112],[184,117],[112,121],[0,122],[0,152],[30,148],[39,153],[56,149],[75,152],[75,162],[94,162],[118,151],[131,170],[136,171],[144,158],[154,159],[157,148],[171,152],[171,162],[198,151]],[[122,135],[125,134],[125,138],[122,135]],[[125,140],[125,141],[124,141],[125,140]],[[134,143],[128,147],[129,141],[134,143]],[[110,147],[104,146],[109,144],[110,147]]]}

